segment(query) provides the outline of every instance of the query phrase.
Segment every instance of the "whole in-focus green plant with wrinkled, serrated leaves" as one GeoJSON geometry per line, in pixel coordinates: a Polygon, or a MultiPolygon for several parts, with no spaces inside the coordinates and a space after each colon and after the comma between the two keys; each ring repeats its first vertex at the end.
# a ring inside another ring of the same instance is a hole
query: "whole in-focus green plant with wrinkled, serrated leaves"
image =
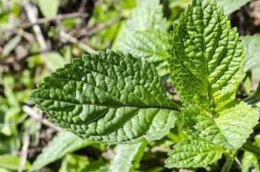
{"type": "Polygon", "coordinates": [[[168,99],[153,64],[112,50],[73,59],[29,98],[56,125],[108,144],[159,140],[179,115],[190,137],[168,153],[166,167],[206,167],[224,153],[222,171],[229,171],[259,119],[257,110],[235,99],[244,77],[243,42],[209,0],[192,1],[169,42],[170,78],[182,104],[168,99]]]}

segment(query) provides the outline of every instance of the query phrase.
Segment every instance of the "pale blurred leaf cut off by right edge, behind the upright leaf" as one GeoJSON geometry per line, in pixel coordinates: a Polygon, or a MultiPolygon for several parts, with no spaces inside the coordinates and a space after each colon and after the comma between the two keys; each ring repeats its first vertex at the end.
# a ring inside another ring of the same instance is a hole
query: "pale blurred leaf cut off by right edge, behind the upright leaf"
{"type": "Polygon", "coordinates": [[[260,35],[240,36],[240,38],[244,40],[244,48],[247,49],[244,62],[244,71],[246,72],[252,70],[252,73],[260,79],[259,73],[255,72],[257,69],[260,69],[260,35]]]}

